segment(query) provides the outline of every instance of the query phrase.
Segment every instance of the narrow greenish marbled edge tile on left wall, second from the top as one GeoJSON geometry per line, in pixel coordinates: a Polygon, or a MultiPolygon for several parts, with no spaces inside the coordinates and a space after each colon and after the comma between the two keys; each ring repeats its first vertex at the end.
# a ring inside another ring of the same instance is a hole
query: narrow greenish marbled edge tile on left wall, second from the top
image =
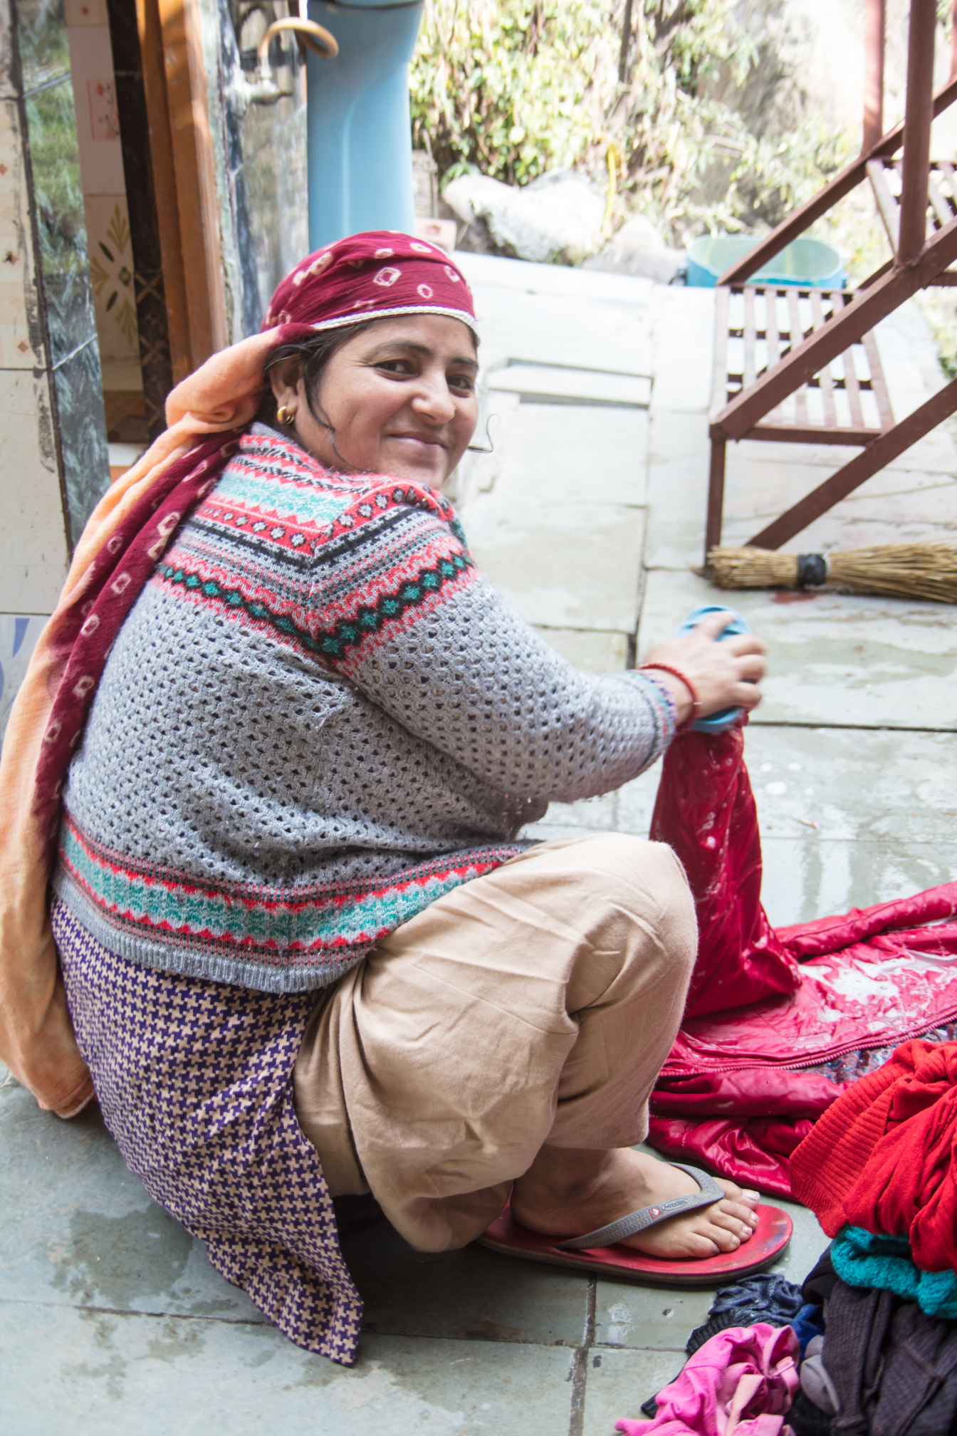
{"type": "Polygon", "coordinates": [[[26,111],[50,358],[57,365],[96,333],[69,76],[30,95],[26,111]]]}

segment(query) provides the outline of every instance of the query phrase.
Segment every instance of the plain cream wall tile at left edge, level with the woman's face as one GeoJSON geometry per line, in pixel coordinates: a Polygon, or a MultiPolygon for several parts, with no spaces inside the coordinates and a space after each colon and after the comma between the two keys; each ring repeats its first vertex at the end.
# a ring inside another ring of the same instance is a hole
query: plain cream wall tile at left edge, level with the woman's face
{"type": "Polygon", "coordinates": [[[66,577],[66,534],[49,381],[0,369],[0,612],[50,613],[66,577]]]}

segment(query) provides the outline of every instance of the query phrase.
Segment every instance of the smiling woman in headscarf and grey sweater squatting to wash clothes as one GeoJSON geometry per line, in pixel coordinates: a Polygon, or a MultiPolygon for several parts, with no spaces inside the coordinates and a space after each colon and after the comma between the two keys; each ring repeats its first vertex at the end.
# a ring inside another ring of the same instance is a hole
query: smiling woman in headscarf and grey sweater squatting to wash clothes
{"type": "Polygon", "coordinates": [[[308,256],[93,514],[0,765],[0,1054],[65,1116],[95,1087],[218,1271],[346,1363],[334,1198],[426,1251],[511,1195],[630,1271],[756,1264],[755,1193],[631,1150],[694,959],[680,864],[519,830],[755,707],[760,645],[717,615],[641,672],[550,649],[440,493],[475,375],[440,250],[308,256]]]}

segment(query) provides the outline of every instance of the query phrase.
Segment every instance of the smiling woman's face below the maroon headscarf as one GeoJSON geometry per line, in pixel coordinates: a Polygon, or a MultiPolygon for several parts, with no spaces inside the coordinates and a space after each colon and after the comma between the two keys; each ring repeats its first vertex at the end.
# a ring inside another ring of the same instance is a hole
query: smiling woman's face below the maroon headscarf
{"type": "Polygon", "coordinates": [[[475,340],[458,319],[382,319],[329,360],[313,395],[303,378],[273,375],[278,405],[296,414],[300,444],[327,468],[396,474],[439,488],[478,418],[475,340]],[[333,444],[334,439],[334,444],[333,444]]]}

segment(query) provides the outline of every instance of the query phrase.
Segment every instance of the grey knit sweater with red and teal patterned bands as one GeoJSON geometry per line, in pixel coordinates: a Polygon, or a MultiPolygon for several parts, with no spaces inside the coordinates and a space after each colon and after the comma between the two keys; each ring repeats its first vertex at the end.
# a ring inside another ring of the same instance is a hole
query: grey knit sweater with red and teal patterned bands
{"type": "Polygon", "coordinates": [[[118,956],[321,988],[673,728],[654,682],[552,652],[433,490],[254,425],[113,646],[55,889],[118,956]]]}

